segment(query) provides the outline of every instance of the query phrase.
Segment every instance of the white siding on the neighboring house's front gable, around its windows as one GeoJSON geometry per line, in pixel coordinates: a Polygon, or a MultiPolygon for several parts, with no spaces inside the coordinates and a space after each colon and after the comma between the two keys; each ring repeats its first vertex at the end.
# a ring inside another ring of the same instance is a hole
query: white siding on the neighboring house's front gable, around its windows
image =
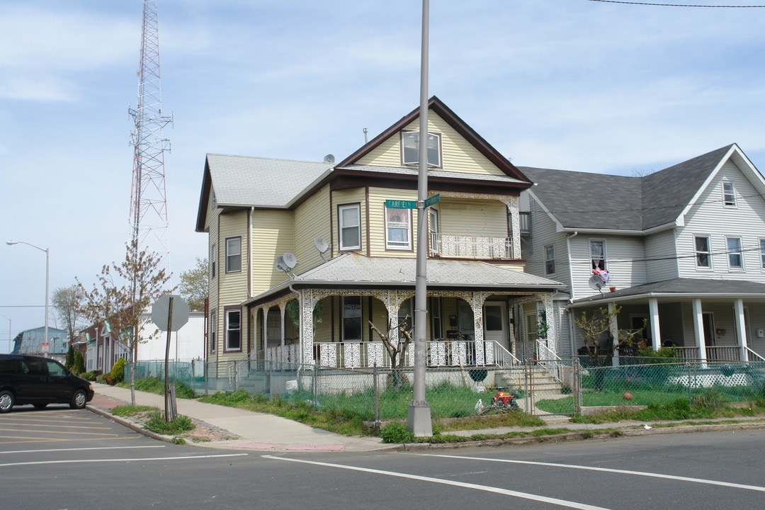
{"type": "Polygon", "coordinates": [[[721,171],[702,193],[678,232],[679,273],[683,278],[731,278],[765,283],[760,261],[760,239],[765,238],[765,200],[757,194],[735,164],[724,164],[721,171]],[[735,183],[737,207],[722,204],[721,181],[727,178],[735,183]],[[694,237],[709,236],[711,240],[712,268],[695,267],[694,237]],[[744,249],[744,271],[728,268],[726,254],[729,236],[740,237],[744,249]]]}

